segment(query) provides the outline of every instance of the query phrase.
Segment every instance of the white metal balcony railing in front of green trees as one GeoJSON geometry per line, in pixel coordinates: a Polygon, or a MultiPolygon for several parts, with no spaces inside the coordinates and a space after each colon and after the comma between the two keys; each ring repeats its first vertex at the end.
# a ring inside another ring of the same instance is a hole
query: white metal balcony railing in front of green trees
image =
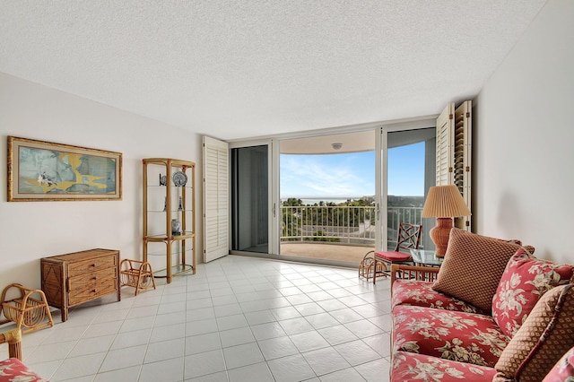
{"type": "MultiPolygon", "coordinates": [[[[375,213],[374,206],[282,206],[281,241],[325,242],[374,247],[375,213]]],[[[422,207],[389,207],[387,209],[388,247],[396,246],[399,222],[422,224],[421,213],[422,207]]],[[[424,247],[422,242],[421,247],[424,247]]]]}

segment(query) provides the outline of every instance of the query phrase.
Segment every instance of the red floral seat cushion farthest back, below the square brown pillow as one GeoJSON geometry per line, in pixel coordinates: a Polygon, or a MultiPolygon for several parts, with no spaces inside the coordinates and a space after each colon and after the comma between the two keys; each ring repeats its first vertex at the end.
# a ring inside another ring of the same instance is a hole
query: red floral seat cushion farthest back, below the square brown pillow
{"type": "Polygon", "coordinates": [[[420,280],[396,280],[393,283],[392,303],[393,307],[397,305],[413,305],[467,313],[486,313],[463,300],[458,300],[455,297],[433,290],[432,282],[420,280]]]}

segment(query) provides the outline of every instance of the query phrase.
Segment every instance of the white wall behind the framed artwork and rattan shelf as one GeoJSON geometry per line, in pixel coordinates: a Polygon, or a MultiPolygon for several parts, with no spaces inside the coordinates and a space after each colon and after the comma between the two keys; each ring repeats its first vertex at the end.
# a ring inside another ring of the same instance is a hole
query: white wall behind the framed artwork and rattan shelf
{"type": "MultiPolygon", "coordinates": [[[[203,256],[201,136],[0,74],[0,288],[40,287],[39,259],[103,247],[142,257],[142,159],[196,162],[197,260],[203,256]],[[6,202],[6,136],[123,153],[123,200],[6,202]]],[[[162,260],[162,259],[161,259],[162,260]]],[[[158,259],[154,269],[165,267],[158,259]]]]}

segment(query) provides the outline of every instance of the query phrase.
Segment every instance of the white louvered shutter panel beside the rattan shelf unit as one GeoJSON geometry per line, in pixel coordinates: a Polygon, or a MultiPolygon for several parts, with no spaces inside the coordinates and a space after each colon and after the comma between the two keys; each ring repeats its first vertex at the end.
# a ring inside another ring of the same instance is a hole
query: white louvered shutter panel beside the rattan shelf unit
{"type": "Polygon", "coordinates": [[[204,136],[204,262],[229,254],[229,147],[204,136]]]}

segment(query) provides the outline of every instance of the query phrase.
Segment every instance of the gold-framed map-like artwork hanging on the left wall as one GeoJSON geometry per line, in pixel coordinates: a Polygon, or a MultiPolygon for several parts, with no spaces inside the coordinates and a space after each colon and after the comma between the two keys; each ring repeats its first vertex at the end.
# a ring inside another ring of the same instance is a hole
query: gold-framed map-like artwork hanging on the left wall
{"type": "Polygon", "coordinates": [[[8,202],[121,199],[121,152],[8,136],[8,202]]]}

